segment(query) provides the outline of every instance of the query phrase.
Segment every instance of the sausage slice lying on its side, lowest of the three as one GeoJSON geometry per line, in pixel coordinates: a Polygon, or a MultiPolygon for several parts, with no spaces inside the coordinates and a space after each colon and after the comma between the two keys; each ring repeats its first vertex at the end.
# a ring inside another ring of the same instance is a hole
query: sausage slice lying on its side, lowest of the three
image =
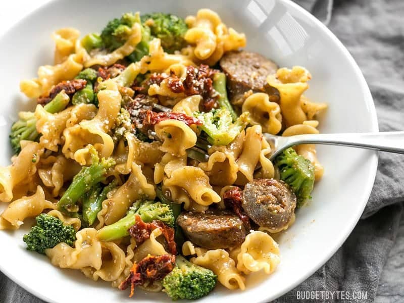
{"type": "Polygon", "coordinates": [[[208,249],[236,247],[247,235],[240,218],[228,211],[184,212],[177,223],[191,242],[208,249]]]}

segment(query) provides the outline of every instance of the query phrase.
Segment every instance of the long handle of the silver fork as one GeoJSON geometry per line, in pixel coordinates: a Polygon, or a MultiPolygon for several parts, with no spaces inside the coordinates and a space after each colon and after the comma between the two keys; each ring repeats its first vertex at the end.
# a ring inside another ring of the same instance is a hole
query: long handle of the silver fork
{"type": "MultiPolygon", "coordinates": [[[[298,144],[330,144],[388,151],[404,154],[404,131],[348,134],[307,134],[290,138],[290,146],[298,144]]],[[[288,142],[289,143],[289,142],[288,142]]]]}

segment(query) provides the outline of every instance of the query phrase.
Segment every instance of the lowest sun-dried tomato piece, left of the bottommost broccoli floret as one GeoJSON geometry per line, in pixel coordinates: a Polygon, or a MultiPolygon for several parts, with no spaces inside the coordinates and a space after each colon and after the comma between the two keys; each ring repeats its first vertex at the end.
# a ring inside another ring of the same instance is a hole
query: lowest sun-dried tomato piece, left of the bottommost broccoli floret
{"type": "Polygon", "coordinates": [[[153,283],[162,280],[175,266],[175,255],[163,256],[148,255],[138,263],[134,263],[129,276],[119,285],[119,289],[125,290],[130,286],[130,295],[133,296],[135,286],[145,282],[153,283]]]}

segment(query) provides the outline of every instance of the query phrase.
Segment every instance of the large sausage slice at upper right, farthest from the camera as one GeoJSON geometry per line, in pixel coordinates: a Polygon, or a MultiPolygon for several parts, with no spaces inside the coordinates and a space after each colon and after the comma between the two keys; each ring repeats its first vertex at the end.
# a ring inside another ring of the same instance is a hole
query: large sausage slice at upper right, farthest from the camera
{"type": "Polygon", "coordinates": [[[279,92],[267,83],[267,76],[276,73],[278,66],[260,54],[230,52],[220,60],[227,77],[230,102],[241,106],[248,92],[266,92],[271,102],[279,102],[279,92]]]}

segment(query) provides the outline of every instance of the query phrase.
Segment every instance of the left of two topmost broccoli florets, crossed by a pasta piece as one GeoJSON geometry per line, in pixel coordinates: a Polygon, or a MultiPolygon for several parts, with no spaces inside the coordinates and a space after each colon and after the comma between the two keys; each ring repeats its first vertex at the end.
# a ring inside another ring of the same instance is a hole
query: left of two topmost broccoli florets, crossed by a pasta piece
{"type": "Polygon", "coordinates": [[[109,52],[122,46],[132,33],[132,26],[139,23],[141,26],[141,41],[136,45],[135,51],[128,56],[131,62],[139,61],[143,56],[148,54],[149,28],[144,27],[140,23],[138,13],[123,14],[120,19],[114,19],[108,22],[107,26],[101,32],[100,38],[103,40],[103,45],[109,52]]]}

